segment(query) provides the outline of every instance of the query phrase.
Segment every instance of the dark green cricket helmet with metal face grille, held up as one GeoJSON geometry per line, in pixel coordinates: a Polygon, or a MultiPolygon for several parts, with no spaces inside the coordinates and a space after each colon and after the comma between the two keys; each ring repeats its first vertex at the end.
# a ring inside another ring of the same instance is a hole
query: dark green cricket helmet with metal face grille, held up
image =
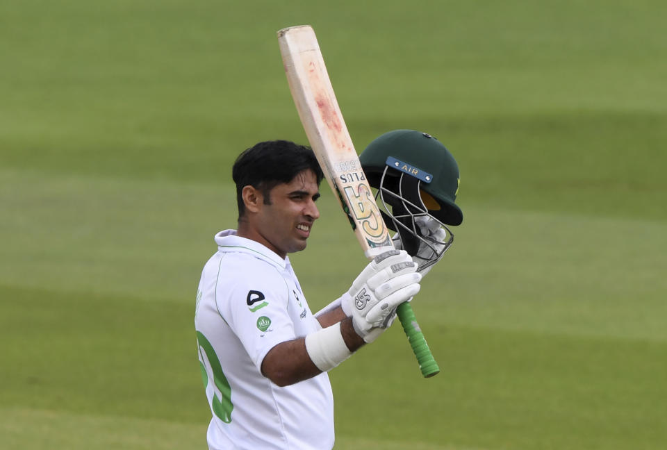
{"type": "Polygon", "coordinates": [[[446,225],[463,222],[461,208],[454,203],[459,165],[440,141],[420,131],[390,131],[368,144],[359,160],[368,183],[377,189],[387,226],[400,233],[408,253],[414,255],[423,242],[417,217],[436,219],[453,240],[446,225]]]}

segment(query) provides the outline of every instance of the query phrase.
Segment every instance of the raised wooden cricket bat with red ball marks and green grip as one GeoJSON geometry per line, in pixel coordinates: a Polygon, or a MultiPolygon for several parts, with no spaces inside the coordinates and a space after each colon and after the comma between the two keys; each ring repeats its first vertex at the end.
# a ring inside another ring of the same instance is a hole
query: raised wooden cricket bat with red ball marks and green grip
{"type": "MultiPolygon", "coordinates": [[[[370,185],[361,169],[340,113],[334,88],[313,28],[292,26],[278,31],[287,81],[301,122],[327,182],[342,206],[367,258],[392,247],[370,185]]],[[[426,378],[440,372],[419,328],[410,303],[397,315],[426,378]]]]}

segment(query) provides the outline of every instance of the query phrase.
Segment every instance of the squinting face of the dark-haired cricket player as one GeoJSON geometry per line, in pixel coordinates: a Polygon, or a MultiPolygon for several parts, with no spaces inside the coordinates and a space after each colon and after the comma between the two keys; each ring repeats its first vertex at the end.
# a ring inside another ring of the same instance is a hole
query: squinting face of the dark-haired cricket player
{"type": "Polygon", "coordinates": [[[306,248],[313,222],[320,217],[315,200],[320,197],[317,178],[311,169],[299,172],[292,181],[270,191],[270,204],[262,203],[256,231],[266,247],[281,258],[306,248]]]}

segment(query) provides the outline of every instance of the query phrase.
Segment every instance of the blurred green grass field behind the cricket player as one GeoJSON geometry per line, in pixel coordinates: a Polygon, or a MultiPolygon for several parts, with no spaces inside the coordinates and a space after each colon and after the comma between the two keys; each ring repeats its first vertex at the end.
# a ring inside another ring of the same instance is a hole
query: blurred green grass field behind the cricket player
{"type": "MultiPolygon", "coordinates": [[[[313,24],[358,151],[427,131],[464,221],[331,372],[336,449],[667,447],[667,3],[0,5],[0,447],[205,449],[193,326],[231,163],[306,142],[275,32],[313,24]]],[[[365,265],[322,187],[313,310],[365,265]]]]}

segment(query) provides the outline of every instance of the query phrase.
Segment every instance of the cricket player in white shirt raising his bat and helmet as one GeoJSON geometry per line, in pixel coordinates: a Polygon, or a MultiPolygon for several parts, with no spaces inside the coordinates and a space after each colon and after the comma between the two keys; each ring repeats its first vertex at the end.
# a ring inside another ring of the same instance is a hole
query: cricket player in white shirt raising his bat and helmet
{"type": "Polygon", "coordinates": [[[306,248],[320,215],[323,175],[313,152],[260,142],[240,154],[232,175],[238,227],[215,235],[195,313],[208,447],[331,449],[327,372],[393,323],[395,308],[420,290],[418,264],[404,250],[381,253],[313,315],[288,257],[306,248]]]}

